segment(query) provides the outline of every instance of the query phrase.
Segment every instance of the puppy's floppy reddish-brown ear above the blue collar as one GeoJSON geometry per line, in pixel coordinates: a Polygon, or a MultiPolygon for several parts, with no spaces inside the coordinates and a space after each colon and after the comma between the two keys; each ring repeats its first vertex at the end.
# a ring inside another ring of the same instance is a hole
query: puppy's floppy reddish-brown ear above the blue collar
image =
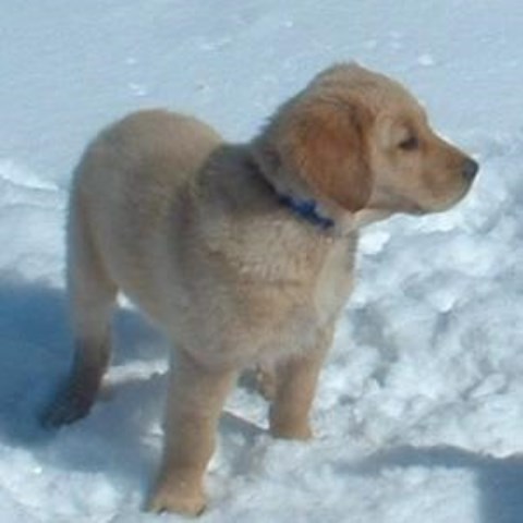
{"type": "Polygon", "coordinates": [[[288,167],[318,196],[352,212],[363,209],[373,190],[369,117],[328,101],[295,109],[279,144],[288,167]]]}

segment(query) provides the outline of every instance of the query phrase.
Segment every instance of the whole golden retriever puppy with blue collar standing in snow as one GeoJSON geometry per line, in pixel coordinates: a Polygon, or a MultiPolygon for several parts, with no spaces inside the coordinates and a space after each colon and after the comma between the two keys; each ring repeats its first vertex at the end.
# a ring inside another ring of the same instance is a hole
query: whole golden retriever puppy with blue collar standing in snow
{"type": "Polygon", "coordinates": [[[430,129],[398,83],[335,65],[252,142],[142,111],[102,131],[75,172],[68,280],[74,363],[46,423],[85,416],[125,293],[172,339],[161,469],[149,509],[198,514],[218,418],[239,373],[276,368],[270,431],[307,439],[358,229],[441,211],[477,163],[430,129]]]}

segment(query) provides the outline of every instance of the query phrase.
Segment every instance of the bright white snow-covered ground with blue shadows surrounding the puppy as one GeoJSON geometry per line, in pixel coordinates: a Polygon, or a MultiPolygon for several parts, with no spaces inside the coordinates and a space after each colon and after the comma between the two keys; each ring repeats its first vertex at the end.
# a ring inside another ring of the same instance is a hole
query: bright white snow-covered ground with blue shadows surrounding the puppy
{"type": "Polygon", "coordinates": [[[158,521],[141,503],[167,342],[134,312],[90,417],[36,423],[70,357],[63,219],[86,139],[158,105],[245,139],[318,70],[357,59],[406,83],[481,175],[450,212],[366,231],[314,442],[272,440],[263,401],[234,393],[202,521],[521,523],[522,26],[519,0],[2,2],[1,521],[158,521]]]}

